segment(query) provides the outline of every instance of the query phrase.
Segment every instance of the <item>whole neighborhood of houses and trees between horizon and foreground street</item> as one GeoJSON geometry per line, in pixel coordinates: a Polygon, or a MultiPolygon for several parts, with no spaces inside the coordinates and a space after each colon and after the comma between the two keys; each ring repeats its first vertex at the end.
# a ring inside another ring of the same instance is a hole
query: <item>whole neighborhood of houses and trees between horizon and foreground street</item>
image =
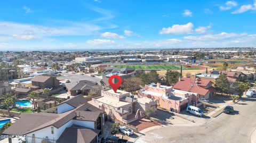
{"type": "Polygon", "coordinates": [[[201,125],[256,102],[255,56],[245,51],[0,53],[6,142],[135,142],[150,128],[201,125]]]}

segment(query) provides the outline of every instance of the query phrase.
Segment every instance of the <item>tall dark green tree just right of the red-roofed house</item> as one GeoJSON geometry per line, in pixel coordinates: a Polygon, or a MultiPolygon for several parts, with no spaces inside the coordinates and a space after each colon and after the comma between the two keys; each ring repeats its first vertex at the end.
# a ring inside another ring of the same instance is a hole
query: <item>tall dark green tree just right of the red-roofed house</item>
{"type": "Polygon", "coordinates": [[[220,90],[221,95],[223,94],[223,92],[228,92],[229,85],[230,85],[230,83],[229,83],[226,75],[224,75],[224,74],[221,74],[219,76],[219,78],[216,79],[216,81],[215,81],[215,86],[217,87],[217,89],[220,90]]]}

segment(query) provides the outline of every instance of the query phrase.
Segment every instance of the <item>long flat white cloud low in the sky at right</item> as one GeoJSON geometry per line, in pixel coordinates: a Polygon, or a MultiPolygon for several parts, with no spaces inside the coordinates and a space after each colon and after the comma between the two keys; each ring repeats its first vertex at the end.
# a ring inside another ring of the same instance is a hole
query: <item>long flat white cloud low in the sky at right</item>
{"type": "Polygon", "coordinates": [[[203,36],[185,36],[184,39],[186,40],[217,40],[217,39],[228,39],[228,38],[234,38],[234,37],[241,37],[246,36],[246,33],[226,33],[221,32],[215,35],[203,35],[203,36]]]}

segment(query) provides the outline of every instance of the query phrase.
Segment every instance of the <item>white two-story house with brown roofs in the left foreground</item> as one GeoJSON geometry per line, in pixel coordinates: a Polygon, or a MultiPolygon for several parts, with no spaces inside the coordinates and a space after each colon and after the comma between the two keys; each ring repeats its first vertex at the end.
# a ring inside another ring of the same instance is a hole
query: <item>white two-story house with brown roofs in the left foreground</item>
{"type": "Polygon", "coordinates": [[[20,119],[4,131],[15,135],[9,142],[98,142],[103,133],[103,112],[87,104],[81,95],[57,105],[58,113],[21,114],[20,119]]]}

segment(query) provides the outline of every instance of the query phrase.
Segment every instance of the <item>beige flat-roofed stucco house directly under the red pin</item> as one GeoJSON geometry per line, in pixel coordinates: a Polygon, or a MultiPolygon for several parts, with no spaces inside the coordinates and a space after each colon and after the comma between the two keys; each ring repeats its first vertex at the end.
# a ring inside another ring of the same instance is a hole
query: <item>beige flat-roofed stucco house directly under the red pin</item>
{"type": "Polygon", "coordinates": [[[105,111],[109,117],[123,123],[131,123],[146,115],[149,107],[157,111],[157,101],[130,95],[123,90],[101,90],[101,96],[92,98],[93,106],[105,111]]]}

